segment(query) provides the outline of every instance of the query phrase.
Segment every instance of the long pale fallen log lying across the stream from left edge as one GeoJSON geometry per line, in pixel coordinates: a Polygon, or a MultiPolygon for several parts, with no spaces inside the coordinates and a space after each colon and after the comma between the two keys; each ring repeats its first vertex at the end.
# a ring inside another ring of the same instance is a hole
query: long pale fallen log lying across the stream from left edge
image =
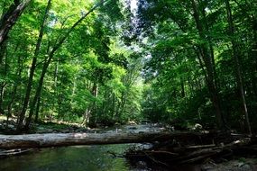
{"type": "Polygon", "coordinates": [[[117,144],[165,141],[179,137],[196,137],[197,132],[139,132],[139,133],[47,133],[0,135],[0,148],[48,148],[74,145],[117,144]]]}

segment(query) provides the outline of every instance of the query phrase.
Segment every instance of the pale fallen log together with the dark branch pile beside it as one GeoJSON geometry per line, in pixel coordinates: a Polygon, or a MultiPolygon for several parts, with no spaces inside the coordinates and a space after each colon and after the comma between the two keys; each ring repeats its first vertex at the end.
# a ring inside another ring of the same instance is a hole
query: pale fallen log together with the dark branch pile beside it
{"type": "Polygon", "coordinates": [[[213,157],[225,157],[234,152],[257,154],[255,137],[188,131],[139,133],[47,133],[0,135],[0,157],[22,154],[26,148],[48,148],[74,145],[151,142],[153,147],[131,150],[127,158],[146,158],[162,166],[196,163],[213,157]],[[12,149],[12,150],[8,150],[12,149]]]}

